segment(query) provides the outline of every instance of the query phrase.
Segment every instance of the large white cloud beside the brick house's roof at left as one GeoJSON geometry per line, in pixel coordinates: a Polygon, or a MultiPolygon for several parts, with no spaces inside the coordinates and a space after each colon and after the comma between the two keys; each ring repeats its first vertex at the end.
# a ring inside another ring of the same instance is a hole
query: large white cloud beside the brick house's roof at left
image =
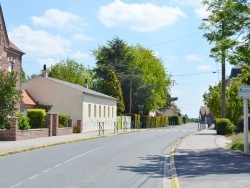
{"type": "Polygon", "coordinates": [[[34,56],[65,55],[70,41],[59,35],[45,31],[32,30],[21,25],[9,33],[9,38],[26,54],[34,56]]]}

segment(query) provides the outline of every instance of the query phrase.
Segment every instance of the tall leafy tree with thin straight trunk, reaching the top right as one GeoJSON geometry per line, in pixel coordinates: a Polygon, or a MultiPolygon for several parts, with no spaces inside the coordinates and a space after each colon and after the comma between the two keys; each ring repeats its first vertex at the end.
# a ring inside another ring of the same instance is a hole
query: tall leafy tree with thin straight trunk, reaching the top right
{"type": "MultiPolygon", "coordinates": [[[[231,53],[235,51],[238,41],[242,35],[242,22],[245,22],[246,12],[249,8],[245,6],[246,0],[204,0],[203,4],[211,13],[200,28],[205,30],[203,35],[214,47],[210,50],[210,56],[221,63],[222,69],[222,117],[226,116],[226,79],[225,64],[235,62],[231,53]]],[[[248,12],[249,14],[249,12],[248,12]]]]}

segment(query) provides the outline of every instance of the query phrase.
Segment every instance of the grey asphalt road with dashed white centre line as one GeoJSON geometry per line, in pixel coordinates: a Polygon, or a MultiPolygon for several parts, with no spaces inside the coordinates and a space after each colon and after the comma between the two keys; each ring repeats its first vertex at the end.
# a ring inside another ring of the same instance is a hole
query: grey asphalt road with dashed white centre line
{"type": "Polygon", "coordinates": [[[166,155],[197,124],[110,136],[0,158],[0,187],[169,187],[166,155]]]}

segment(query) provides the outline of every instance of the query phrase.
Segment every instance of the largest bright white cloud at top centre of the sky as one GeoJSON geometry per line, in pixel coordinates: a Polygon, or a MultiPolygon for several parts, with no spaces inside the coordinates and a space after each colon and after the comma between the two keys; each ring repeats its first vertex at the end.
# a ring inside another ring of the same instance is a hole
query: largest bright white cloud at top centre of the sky
{"type": "Polygon", "coordinates": [[[137,32],[150,32],[173,24],[185,13],[178,7],[152,3],[125,4],[120,0],[101,6],[98,18],[107,27],[128,27],[137,32]]]}

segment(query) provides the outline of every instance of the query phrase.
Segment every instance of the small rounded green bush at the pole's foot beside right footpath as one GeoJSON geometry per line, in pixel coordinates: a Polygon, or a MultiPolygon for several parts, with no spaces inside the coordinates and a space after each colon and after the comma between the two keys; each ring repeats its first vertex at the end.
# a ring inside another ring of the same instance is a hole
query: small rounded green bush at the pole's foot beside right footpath
{"type": "Polygon", "coordinates": [[[226,118],[216,118],[216,131],[218,135],[230,135],[234,132],[234,124],[226,118]]]}

